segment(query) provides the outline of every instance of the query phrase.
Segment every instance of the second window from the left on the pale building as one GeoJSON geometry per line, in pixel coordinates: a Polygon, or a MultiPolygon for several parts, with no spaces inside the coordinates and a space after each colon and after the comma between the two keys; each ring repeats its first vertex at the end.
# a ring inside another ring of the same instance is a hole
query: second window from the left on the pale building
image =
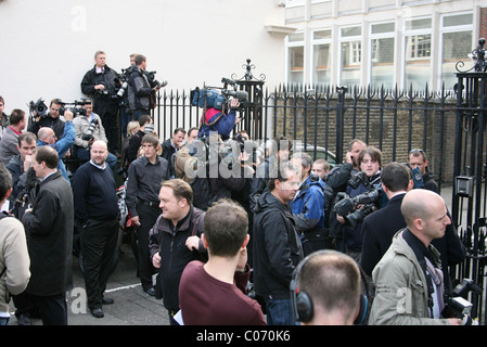
{"type": "Polygon", "coordinates": [[[331,39],[332,30],[319,30],[312,34],[313,83],[331,83],[331,39]]]}

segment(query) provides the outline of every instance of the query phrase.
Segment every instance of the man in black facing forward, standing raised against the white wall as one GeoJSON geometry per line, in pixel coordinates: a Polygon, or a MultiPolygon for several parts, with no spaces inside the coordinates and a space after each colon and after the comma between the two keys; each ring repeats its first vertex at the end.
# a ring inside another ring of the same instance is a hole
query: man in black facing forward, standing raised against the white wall
{"type": "Polygon", "coordinates": [[[94,63],[93,68],[88,70],[81,80],[81,92],[93,99],[93,111],[102,119],[106,131],[108,151],[117,155],[119,100],[115,97],[117,92],[115,79],[118,74],[106,65],[106,54],[103,51],[94,53],[94,63]]]}

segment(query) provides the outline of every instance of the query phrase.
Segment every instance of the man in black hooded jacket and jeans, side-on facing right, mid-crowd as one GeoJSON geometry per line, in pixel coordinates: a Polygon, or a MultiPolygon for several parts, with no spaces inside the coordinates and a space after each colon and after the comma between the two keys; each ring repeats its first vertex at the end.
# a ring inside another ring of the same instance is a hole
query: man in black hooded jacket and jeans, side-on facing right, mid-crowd
{"type": "Polygon", "coordinates": [[[254,208],[255,293],[266,301],[269,325],[293,325],[290,283],[303,248],[287,203],[299,189],[298,169],[282,163],[268,189],[254,208]]]}

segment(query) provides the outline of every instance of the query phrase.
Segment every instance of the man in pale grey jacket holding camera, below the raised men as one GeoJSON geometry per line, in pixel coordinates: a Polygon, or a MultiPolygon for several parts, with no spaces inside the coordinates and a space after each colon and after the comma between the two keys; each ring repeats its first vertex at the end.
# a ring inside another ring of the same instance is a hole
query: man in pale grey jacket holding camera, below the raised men
{"type": "MultiPolygon", "coordinates": [[[[105,129],[101,117],[92,112],[93,104],[90,103],[90,99],[84,100],[85,103],[81,106],[86,110],[86,115],[81,114],[77,116],[73,123],[75,125],[76,138],[73,146],[73,157],[79,160],[90,160],[90,149],[94,141],[103,140],[106,143],[105,129]]],[[[112,171],[117,164],[117,157],[108,152],[106,158],[112,171]]]]}

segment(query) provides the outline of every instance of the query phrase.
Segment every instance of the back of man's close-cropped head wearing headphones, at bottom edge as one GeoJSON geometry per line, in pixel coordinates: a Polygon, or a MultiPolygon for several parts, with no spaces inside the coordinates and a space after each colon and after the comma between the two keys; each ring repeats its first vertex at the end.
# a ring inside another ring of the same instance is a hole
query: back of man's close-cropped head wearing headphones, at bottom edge
{"type": "Polygon", "coordinates": [[[296,321],[304,325],[351,325],[364,321],[368,296],[361,271],[344,253],[311,253],[293,273],[291,301],[296,321]]]}

